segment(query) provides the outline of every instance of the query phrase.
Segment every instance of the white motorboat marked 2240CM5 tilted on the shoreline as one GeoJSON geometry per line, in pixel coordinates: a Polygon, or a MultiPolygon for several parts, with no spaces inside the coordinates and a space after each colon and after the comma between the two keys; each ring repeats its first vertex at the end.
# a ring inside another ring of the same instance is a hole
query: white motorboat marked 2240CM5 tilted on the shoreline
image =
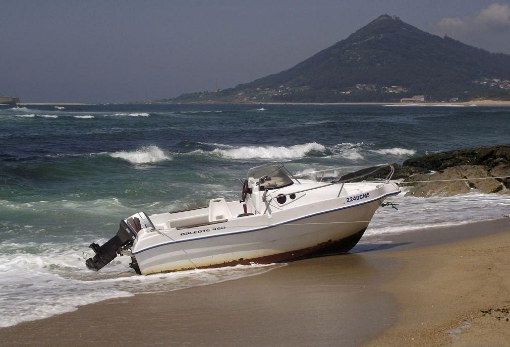
{"type": "Polygon", "coordinates": [[[95,256],[86,260],[87,268],[98,271],[117,255],[130,256],[130,266],[148,275],[347,252],[381,202],[400,190],[390,182],[389,164],[333,182],[324,182],[326,171],[292,175],[281,163],[270,163],[248,171],[241,200],[220,197],[209,206],[151,216],[137,212],[103,246],[90,245],[95,256]],[[382,168],[389,171],[385,179],[354,182],[382,168]],[[312,174],[321,177],[302,178],[312,174]]]}

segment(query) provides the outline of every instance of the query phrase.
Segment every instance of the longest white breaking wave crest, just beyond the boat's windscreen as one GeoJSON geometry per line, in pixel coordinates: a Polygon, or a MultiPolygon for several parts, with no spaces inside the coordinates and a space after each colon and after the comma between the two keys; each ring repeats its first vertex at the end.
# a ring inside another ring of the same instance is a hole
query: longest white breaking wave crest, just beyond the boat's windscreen
{"type": "Polygon", "coordinates": [[[320,156],[326,154],[326,147],[311,142],[303,145],[294,145],[290,147],[276,146],[245,146],[232,149],[215,149],[213,152],[223,157],[231,159],[292,159],[308,156],[320,156]]]}

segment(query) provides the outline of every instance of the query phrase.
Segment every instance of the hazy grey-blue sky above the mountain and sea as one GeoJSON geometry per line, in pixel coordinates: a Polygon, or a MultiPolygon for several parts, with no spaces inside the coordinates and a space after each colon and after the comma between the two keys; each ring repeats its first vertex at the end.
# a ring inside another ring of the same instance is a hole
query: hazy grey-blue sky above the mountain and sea
{"type": "Polygon", "coordinates": [[[388,13],[510,54],[510,1],[0,0],[0,95],[116,102],[234,87],[388,13]]]}

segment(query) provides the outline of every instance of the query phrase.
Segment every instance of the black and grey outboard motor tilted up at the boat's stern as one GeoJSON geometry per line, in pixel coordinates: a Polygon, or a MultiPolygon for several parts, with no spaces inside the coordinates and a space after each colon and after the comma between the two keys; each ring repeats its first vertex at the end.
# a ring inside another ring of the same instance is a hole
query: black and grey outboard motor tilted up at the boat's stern
{"type": "MultiPolygon", "coordinates": [[[[115,259],[118,254],[122,255],[122,250],[130,248],[138,232],[144,228],[155,229],[145,212],[137,212],[133,216],[120,221],[117,234],[110,238],[103,246],[99,246],[96,243],[90,244],[90,248],[92,248],[95,255],[85,261],[87,268],[92,271],[98,271],[104,268],[104,266],[115,259]]],[[[130,266],[135,269],[138,274],[140,273],[138,264],[134,258],[130,266]]]]}

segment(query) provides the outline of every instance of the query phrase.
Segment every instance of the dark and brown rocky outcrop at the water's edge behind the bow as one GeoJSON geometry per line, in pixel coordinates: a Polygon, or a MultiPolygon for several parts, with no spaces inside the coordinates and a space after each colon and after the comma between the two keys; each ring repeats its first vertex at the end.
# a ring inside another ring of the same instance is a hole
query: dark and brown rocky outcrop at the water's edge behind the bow
{"type": "Polygon", "coordinates": [[[396,178],[408,186],[406,196],[452,196],[476,189],[482,193],[510,194],[510,146],[468,148],[407,159],[396,178]],[[438,180],[453,180],[438,182],[438,180]],[[455,181],[459,179],[458,181],[455,181]],[[416,183],[413,183],[416,182],[416,183]]]}

